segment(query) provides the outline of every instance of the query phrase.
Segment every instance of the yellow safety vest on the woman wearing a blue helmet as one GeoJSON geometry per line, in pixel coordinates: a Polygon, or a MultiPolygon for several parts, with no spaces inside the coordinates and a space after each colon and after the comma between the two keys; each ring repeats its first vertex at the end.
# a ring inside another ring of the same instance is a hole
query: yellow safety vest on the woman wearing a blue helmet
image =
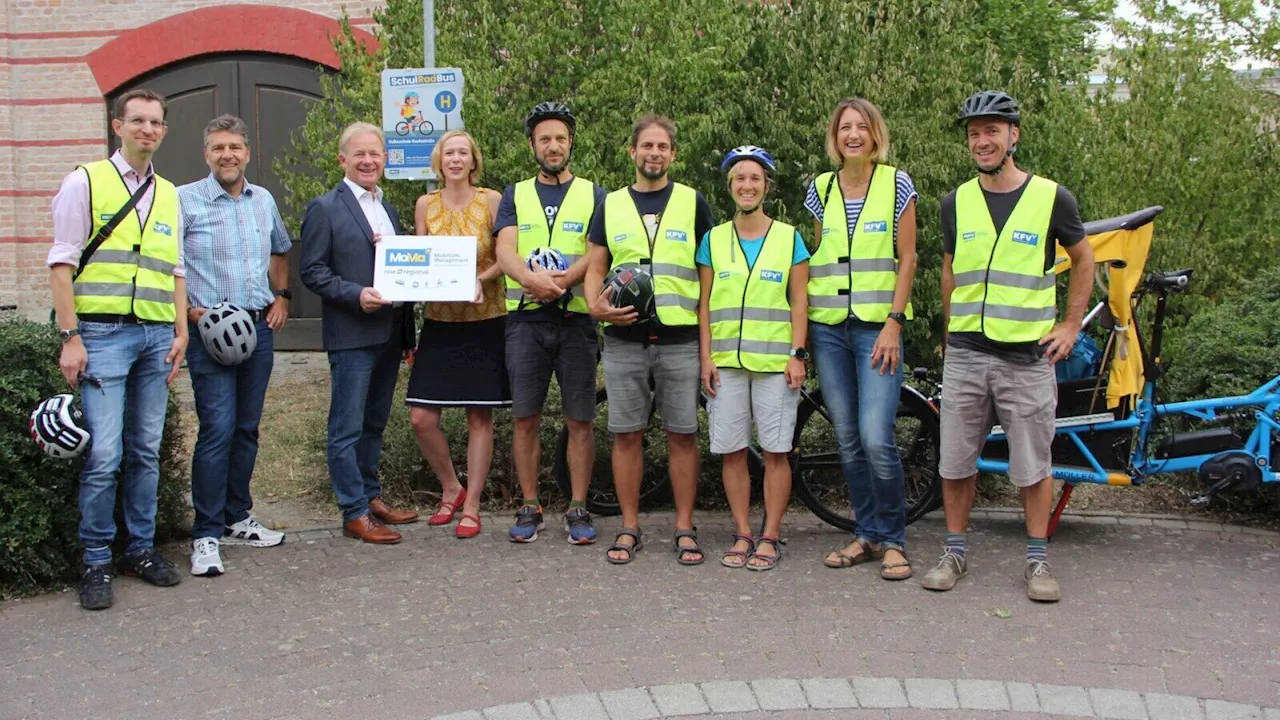
{"type": "Polygon", "coordinates": [[[796,228],[774,220],[748,268],[732,220],[710,233],[712,361],[717,368],[781,373],[791,357],[791,261],[796,228]]]}

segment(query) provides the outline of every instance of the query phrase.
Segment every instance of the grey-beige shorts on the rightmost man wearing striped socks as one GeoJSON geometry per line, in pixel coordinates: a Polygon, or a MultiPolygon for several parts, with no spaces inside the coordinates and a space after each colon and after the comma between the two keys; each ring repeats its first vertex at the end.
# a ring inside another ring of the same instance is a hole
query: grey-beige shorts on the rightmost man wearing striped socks
{"type": "Polygon", "coordinates": [[[1011,363],[988,352],[947,347],[942,365],[942,428],[938,474],[964,479],[1000,420],[1009,438],[1009,479],[1033,486],[1052,474],[1057,378],[1046,360],[1011,363]]]}

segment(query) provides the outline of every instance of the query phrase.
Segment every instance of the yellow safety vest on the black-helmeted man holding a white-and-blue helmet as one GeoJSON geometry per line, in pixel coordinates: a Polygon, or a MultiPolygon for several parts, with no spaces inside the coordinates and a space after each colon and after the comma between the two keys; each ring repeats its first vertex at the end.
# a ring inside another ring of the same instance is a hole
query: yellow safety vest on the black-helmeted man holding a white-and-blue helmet
{"type": "MultiPolygon", "coordinates": [[[[538,179],[529,178],[516,183],[516,251],[521,258],[538,247],[554,247],[564,255],[564,260],[572,266],[586,255],[586,229],[591,224],[591,214],[595,211],[595,184],[581,178],[571,178],[568,190],[559,210],[550,222],[547,211],[538,199],[538,179]]],[[[573,286],[570,291],[571,299],[566,309],[571,313],[586,314],[586,296],[582,295],[582,284],[573,286]]],[[[520,283],[507,275],[507,310],[511,313],[522,310],[538,310],[543,307],[532,301],[525,300],[525,291],[520,283]]]]}

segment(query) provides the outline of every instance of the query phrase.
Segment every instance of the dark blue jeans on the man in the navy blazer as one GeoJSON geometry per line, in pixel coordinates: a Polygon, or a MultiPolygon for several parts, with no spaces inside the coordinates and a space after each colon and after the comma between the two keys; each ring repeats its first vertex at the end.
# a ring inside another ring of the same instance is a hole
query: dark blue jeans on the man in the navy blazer
{"type": "Polygon", "coordinates": [[[378,460],[399,374],[397,342],[329,352],[329,482],[343,520],[369,514],[383,492],[378,460]]]}

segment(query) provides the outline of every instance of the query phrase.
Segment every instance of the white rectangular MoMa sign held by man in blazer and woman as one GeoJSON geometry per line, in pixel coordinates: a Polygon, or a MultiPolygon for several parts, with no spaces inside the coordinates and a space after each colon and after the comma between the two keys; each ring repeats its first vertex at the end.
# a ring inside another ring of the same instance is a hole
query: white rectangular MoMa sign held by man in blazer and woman
{"type": "Polygon", "coordinates": [[[476,238],[384,236],[374,256],[374,290],[403,302],[471,302],[476,296],[476,238]]]}

